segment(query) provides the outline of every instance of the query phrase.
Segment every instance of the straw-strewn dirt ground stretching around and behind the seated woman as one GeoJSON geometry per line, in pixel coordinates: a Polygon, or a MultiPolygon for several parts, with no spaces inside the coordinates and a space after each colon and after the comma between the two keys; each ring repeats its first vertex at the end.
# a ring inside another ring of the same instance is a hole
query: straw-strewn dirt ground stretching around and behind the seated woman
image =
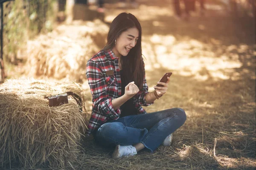
{"type": "MultiPolygon", "coordinates": [[[[172,146],[117,160],[111,159],[113,149],[85,137],[75,169],[255,169],[255,21],[207,4],[204,16],[197,11],[186,22],[175,19],[171,1],[144,1],[138,0],[136,9],[106,4],[105,21],[122,11],[140,20],[149,91],[164,73],[173,73],[168,93],[145,110],[183,108],[187,120],[174,133],[172,146]]],[[[90,113],[86,81],[83,87],[90,113]]]]}

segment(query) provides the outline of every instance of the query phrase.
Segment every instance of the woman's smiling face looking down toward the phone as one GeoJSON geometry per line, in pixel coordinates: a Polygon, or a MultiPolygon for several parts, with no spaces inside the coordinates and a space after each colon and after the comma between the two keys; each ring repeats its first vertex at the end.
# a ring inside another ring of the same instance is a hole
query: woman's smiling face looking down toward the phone
{"type": "Polygon", "coordinates": [[[116,39],[116,45],[112,48],[116,57],[127,56],[131,48],[137,44],[139,39],[139,30],[137,28],[129,28],[122,32],[116,39]]]}

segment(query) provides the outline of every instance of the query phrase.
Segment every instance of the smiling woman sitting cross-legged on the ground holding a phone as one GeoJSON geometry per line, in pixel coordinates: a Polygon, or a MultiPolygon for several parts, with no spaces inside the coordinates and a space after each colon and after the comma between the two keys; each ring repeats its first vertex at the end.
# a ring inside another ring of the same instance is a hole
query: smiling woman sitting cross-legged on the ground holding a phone
{"type": "Polygon", "coordinates": [[[168,89],[157,82],[148,92],[141,49],[141,26],[132,14],[121,13],[111,23],[107,44],[88,62],[86,76],[93,95],[87,134],[97,143],[116,146],[112,158],[133,156],[143,148],[153,152],[169,146],[172,133],[186,120],[185,112],[172,108],[145,114],[141,107],[153,104],[168,89]]]}

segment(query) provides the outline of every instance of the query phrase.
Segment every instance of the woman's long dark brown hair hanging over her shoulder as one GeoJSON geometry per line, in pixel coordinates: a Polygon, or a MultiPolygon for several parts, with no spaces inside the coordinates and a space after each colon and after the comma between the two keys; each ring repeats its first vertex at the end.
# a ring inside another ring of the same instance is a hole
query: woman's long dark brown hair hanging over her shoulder
{"type": "Polygon", "coordinates": [[[103,50],[112,49],[115,45],[115,40],[122,34],[122,32],[127,31],[129,28],[137,28],[139,30],[139,38],[137,44],[131,48],[128,55],[122,56],[122,70],[124,72],[125,83],[128,84],[129,82],[134,81],[141,90],[143,88],[143,79],[145,76],[141,49],[142,29],[140,22],[133,14],[123,12],[112,21],[108,32],[107,44],[103,50]]]}

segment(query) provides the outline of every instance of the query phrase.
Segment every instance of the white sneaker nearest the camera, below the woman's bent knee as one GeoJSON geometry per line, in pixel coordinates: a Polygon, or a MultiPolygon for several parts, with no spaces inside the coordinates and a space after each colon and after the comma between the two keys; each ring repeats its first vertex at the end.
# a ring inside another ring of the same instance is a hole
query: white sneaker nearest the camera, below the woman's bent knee
{"type": "Polygon", "coordinates": [[[132,145],[116,145],[116,149],[112,154],[113,159],[121,158],[122,156],[134,156],[137,154],[137,150],[132,145]]]}

